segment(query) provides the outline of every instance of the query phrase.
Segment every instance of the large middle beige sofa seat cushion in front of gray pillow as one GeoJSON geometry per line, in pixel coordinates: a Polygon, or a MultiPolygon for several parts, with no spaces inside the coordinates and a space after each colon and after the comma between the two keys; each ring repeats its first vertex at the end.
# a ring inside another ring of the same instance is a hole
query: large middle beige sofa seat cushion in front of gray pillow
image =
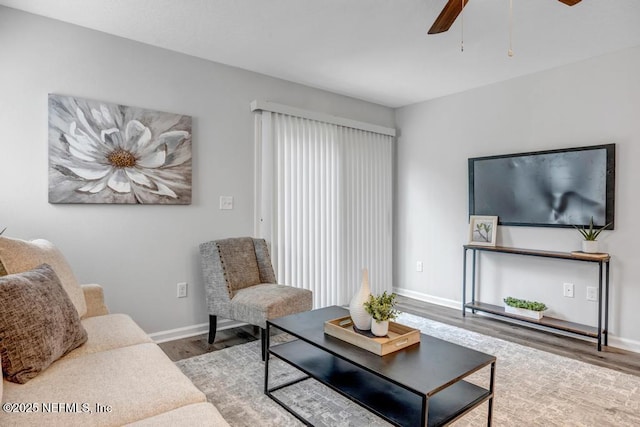
{"type": "Polygon", "coordinates": [[[86,403],[91,412],[0,411],[2,426],[118,426],[206,402],[205,395],[150,343],[62,358],[27,384],[5,383],[3,398],[12,403],[86,403]]]}

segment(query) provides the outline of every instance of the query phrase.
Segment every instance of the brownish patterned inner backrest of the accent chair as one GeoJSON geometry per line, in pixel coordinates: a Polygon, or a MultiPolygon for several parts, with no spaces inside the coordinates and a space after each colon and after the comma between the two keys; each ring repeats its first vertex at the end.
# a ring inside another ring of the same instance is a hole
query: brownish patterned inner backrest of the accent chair
{"type": "Polygon", "coordinates": [[[260,283],[260,270],[252,238],[218,240],[216,246],[231,298],[240,289],[260,283]]]}

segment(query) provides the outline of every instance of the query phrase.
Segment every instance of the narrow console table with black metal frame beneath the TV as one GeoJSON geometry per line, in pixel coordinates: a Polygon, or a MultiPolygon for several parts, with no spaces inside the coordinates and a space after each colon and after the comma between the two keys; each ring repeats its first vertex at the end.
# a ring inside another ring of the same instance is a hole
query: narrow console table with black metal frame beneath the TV
{"type": "Polygon", "coordinates": [[[609,254],[587,254],[582,252],[550,252],[532,249],[517,249],[503,246],[477,246],[464,245],[464,262],[462,273],[462,315],[465,316],[468,309],[473,313],[482,311],[497,316],[504,316],[522,322],[533,323],[546,328],[562,330],[578,335],[591,337],[598,342],[598,351],[602,350],[602,344],[608,345],[607,331],[609,327],[609,254]],[[467,302],[467,251],[472,252],[471,272],[471,301],[467,302]],[[476,260],[477,252],[497,252],[503,254],[525,255],[544,258],[565,259],[569,261],[593,262],[598,264],[598,326],[581,325],[566,320],[554,319],[544,316],[542,319],[530,319],[507,313],[502,306],[476,301],[476,260]],[[604,282],[604,287],[603,287],[604,282]],[[604,301],[603,301],[604,290],[604,301]]]}

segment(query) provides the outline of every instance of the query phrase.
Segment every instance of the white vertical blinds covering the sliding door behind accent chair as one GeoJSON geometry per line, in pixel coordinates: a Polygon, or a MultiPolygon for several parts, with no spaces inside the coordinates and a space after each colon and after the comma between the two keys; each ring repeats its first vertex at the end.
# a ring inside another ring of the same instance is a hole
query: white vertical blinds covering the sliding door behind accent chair
{"type": "Polygon", "coordinates": [[[262,111],[256,120],[256,234],[279,283],[344,305],[369,269],[392,289],[393,137],[262,111]]]}

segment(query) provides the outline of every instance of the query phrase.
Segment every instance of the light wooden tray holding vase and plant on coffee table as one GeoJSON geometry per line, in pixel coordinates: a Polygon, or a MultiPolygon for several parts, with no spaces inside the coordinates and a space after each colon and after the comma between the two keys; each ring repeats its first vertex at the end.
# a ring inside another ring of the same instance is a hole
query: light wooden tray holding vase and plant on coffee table
{"type": "Polygon", "coordinates": [[[356,332],[350,316],[339,317],[324,322],[324,333],[363,348],[378,356],[409,347],[420,342],[420,331],[396,322],[389,322],[389,332],[385,337],[369,338],[356,332]]]}

